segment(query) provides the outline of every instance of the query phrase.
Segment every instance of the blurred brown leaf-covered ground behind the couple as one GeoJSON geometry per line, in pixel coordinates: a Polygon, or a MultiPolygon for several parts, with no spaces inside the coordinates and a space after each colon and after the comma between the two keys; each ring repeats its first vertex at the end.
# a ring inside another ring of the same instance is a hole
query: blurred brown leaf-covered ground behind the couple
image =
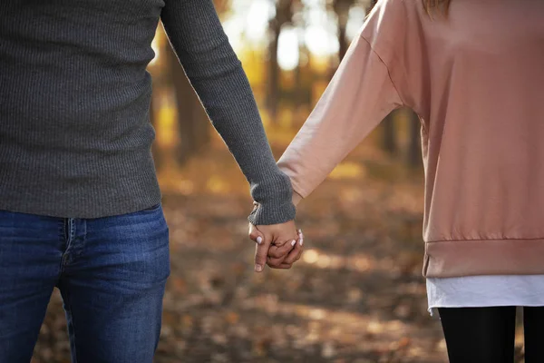
{"type": "MultiPolygon", "coordinates": [[[[247,184],[220,142],[160,180],[171,277],[157,363],[447,361],[421,276],[421,172],[359,148],[302,202],[303,259],[258,275],[247,184]]],[[[65,330],[55,291],[33,363],[70,361],[65,330]]]]}

